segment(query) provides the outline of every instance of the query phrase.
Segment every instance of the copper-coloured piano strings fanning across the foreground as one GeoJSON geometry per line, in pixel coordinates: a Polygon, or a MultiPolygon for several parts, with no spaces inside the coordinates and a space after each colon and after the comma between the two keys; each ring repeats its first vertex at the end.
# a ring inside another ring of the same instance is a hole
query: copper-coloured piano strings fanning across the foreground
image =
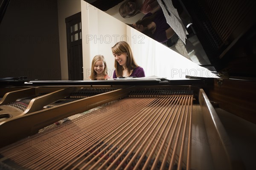
{"type": "Polygon", "coordinates": [[[192,93],[141,91],[1,148],[27,169],[190,169],[192,93]]]}

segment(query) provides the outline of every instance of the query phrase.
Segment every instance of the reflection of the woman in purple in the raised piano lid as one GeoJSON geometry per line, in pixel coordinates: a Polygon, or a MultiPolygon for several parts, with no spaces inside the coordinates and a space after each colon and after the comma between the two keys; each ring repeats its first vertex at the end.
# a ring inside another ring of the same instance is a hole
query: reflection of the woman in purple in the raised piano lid
{"type": "Polygon", "coordinates": [[[175,34],[175,31],[166,22],[162,9],[154,13],[150,12],[142,20],[128,25],[158,42],[166,42],[175,34]]]}

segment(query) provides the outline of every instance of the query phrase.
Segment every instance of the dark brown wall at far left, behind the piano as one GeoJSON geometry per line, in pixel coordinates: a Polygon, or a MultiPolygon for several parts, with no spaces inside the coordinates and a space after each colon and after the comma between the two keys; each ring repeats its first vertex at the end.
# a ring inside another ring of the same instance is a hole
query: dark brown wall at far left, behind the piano
{"type": "Polygon", "coordinates": [[[11,0],[0,23],[0,78],[60,80],[57,0],[11,0]]]}

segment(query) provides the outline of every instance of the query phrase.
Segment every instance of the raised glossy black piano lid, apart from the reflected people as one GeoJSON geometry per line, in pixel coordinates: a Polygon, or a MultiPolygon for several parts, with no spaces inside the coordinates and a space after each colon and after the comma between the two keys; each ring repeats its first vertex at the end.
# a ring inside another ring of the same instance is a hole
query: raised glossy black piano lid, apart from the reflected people
{"type": "MultiPolygon", "coordinates": [[[[131,18],[129,20],[122,18],[119,7],[125,0],[84,1],[124,23],[129,21],[131,24],[144,16],[137,14],[131,17],[134,18],[133,21],[131,18]]],[[[256,20],[252,16],[256,10],[256,1],[157,0],[157,2],[164,12],[172,13],[177,9],[181,23],[188,32],[185,48],[193,62],[210,71],[217,71],[224,78],[255,79],[256,44],[253,40],[256,38],[256,20]]],[[[177,38],[181,39],[175,34],[163,44],[175,49],[173,41],[176,39],[177,42],[177,38]]]]}

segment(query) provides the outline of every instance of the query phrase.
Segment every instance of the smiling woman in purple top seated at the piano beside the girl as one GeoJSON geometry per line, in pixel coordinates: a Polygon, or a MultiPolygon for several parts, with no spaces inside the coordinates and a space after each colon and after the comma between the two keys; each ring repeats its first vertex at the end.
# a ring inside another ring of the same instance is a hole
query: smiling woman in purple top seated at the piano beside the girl
{"type": "Polygon", "coordinates": [[[143,68],[137,65],[134,60],[130,45],[125,41],[117,42],[112,47],[115,57],[114,66],[116,70],[113,78],[116,77],[145,77],[143,68]]]}

